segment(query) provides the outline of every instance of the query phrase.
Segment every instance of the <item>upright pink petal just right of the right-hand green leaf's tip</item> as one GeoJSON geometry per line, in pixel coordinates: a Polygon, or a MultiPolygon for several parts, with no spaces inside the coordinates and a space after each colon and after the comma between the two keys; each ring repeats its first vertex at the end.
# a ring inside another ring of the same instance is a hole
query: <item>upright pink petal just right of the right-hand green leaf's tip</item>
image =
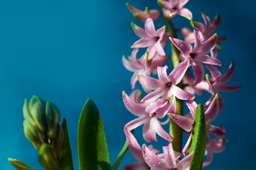
{"type": "Polygon", "coordinates": [[[211,123],[219,113],[218,108],[218,94],[215,94],[213,101],[210,102],[210,106],[207,108],[205,113],[206,123],[211,123]]]}

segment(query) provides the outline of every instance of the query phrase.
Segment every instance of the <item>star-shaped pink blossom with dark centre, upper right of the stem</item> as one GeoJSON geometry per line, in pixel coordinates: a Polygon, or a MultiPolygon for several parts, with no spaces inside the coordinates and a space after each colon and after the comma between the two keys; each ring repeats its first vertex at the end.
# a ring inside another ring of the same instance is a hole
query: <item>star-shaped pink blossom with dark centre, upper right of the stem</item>
{"type": "Polygon", "coordinates": [[[211,36],[208,40],[206,40],[206,42],[202,42],[201,35],[196,30],[194,30],[194,36],[196,40],[194,47],[192,47],[190,43],[183,40],[178,40],[176,38],[170,38],[170,40],[172,43],[174,43],[178,50],[181,51],[181,60],[188,59],[191,61],[193,73],[196,78],[193,85],[196,86],[196,84],[203,81],[204,77],[203,64],[201,63],[214,64],[219,66],[223,64],[219,60],[207,55],[216,45],[217,34],[211,36]]]}

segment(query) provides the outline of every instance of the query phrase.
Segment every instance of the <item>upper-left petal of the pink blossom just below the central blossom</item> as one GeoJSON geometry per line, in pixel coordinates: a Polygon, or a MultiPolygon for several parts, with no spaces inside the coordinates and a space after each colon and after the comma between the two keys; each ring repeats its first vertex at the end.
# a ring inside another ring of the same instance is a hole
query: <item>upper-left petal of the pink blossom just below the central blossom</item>
{"type": "Polygon", "coordinates": [[[132,101],[124,91],[122,92],[122,98],[124,101],[124,106],[129,112],[137,116],[146,114],[145,108],[138,103],[134,103],[134,101],[132,101]]]}

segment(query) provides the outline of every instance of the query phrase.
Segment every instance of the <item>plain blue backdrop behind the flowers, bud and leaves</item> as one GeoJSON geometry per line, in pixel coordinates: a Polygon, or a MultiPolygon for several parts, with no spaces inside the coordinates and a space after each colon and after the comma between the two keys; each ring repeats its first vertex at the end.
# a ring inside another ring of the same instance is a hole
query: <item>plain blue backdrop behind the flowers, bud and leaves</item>
{"type": "MultiPolygon", "coordinates": [[[[134,20],[125,2],[0,1],[0,169],[14,169],[7,157],[43,169],[38,152],[23,135],[23,100],[33,94],[53,101],[61,116],[68,119],[75,169],[78,118],[87,98],[92,98],[105,123],[110,161],[114,162],[125,140],[124,125],[135,118],[122,103],[122,91],[131,92],[132,72],[124,69],[121,58],[130,55],[130,45],[138,40],[130,22],[144,27],[134,20]]],[[[159,8],[156,1],[128,2],[140,9],[159,8]]],[[[200,11],[211,20],[220,13],[217,33],[228,39],[218,53],[225,64],[220,70],[226,72],[231,59],[235,60],[230,84],[242,86],[240,91],[222,93],[225,108],[213,125],[224,123],[229,142],[223,153],[214,154],[206,169],[256,169],[255,5],[253,0],[193,0],[185,6],[192,11],[194,21],[203,22],[200,11]]],[[[156,28],[161,26],[164,21],[159,19],[156,28]]],[[[189,27],[189,22],[177,16],[174,26],[189,27]]],[[[209,96],[196,101],[206,101],[209,96]]],[[[143,140],[139,143],[142,145],[143,140]]],[[[161,146],[157,148],[161,150],[161,146]]],[[[128,153],[121,166],[134,161],[128,153]]]]}

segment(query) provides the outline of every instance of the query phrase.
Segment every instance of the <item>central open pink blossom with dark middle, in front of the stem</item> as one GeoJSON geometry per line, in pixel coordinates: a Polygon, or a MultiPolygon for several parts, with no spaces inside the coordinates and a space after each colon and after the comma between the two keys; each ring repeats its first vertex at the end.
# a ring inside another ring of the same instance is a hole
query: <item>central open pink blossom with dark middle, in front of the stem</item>
{"type": "Polygon", "coordinates": [[[189,60],[185,60],[178,64],[169,76],[166,73],[167,66],[157,67],[159,79],[138,75],[139,82],[144,88],[154,90],[142,99],[142,102],[149,103],[146,106],[147,113],[156,113],[162,118],[166,113],[176,113],[176,98],[181,100],[193,100],[195,98],[193,94],[189,94],[176,86],[189,66],[189,60]]]}

